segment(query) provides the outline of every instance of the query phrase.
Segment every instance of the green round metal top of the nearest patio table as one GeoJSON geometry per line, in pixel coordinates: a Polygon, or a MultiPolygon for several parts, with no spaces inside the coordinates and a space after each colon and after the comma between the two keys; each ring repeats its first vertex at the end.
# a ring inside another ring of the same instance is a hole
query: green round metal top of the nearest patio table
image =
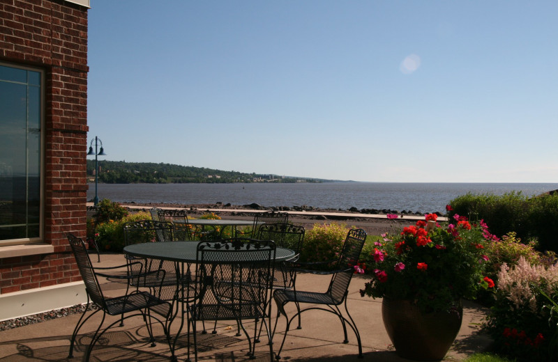
{"type": "MultiPolygon", "coordinates": [[[[124,247],[124,253],[140,258],[170,260],[173,262],[196,262],[199,242],[146,242],[124,247]]],[[[242,251],[238,251],[242,253],[242,251]]],[[[287,248],[276,249],[276,262],[294,257],[294,251],[287,248]]],[[[236,255],[238,256],[238,255],[236,255]]]]}

